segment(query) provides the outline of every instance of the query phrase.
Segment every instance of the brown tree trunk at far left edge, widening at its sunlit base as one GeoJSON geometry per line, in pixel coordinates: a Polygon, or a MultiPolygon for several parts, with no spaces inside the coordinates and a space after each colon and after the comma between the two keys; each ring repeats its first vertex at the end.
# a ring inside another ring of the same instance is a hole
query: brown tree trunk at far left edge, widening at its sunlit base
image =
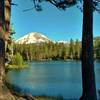
{"type": "Polygon", "coordinates": [[[5,83],[5,16],[4,1],[0,0],[0,100],[15,100],[5,83]]]}

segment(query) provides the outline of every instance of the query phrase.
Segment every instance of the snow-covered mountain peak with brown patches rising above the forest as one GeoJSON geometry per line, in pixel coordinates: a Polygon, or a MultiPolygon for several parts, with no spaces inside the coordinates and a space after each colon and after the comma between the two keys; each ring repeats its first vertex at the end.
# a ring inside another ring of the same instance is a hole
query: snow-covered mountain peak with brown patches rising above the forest
{"type": "Polygon", "coordinates": [[[15,42],[18,44],[30,44],[30,43],[42,43],[42,42],[49,42],[50,39],[47,38],[45,35],[38,33],[38,32],[31,32],[23,37],[19,38],[15,42]]]}

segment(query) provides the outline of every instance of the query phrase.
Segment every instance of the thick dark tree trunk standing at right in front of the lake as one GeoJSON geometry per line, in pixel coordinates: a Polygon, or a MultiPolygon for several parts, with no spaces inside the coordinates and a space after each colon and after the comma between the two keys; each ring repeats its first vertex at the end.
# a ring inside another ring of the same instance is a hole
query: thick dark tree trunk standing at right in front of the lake
{"type": "Polygon", "coordinates": [[[83,0],[82,85],[80,100],[97,100],[93,60],[93,0],[83,0]]]}

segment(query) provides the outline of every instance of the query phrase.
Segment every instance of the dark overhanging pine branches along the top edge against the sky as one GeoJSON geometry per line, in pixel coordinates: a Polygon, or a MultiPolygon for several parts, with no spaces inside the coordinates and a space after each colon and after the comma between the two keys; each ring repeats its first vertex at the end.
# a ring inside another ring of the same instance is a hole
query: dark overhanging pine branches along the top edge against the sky
{"type": "MultiPolygon", "coordinates": [[[[66,10],[72,6],[77,6],[78,9],[83,11],[83,2],[84,0],[32,0],[34,7],[37,11],[42,11],[41,3],[42,2],[49,2],[53,6],[57,7],[61,10],[66,10]]],[[[32,9],[26,9],[24,11],[29,11],[32,9]]],[[[97,11],[100,13],[100,0],[93,0],[93,11],[97,11]]]]}

